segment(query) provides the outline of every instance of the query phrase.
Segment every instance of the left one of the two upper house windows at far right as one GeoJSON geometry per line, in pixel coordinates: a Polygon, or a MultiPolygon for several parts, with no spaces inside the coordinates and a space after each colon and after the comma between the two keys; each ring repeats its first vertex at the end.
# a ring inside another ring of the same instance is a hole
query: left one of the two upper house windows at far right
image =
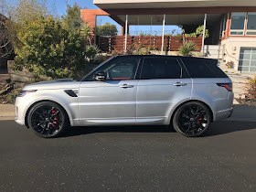
{"type": "Polygon", "coordinates": [[[230,36],[243,36],[244,35],[244,21],[246,13],[232,13],[230,36]]]}

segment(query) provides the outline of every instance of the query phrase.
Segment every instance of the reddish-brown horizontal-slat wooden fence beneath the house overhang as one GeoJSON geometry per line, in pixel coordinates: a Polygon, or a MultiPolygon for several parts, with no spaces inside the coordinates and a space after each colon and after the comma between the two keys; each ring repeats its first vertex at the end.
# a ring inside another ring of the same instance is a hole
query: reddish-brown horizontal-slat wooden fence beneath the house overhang
{"type": "MultiPolygon", "coordinates": [[[[186,37],[186,41],[194,41],[197,45],[197,50],[201,49],[202,37],[186,37]]],[[[96,37],[96,44],[103,52],[112,53],[116,50],[118,53],[123,53],[125,37],[112,36],[112,37],[96,37]]],[[[164,37],[164,50],[177,51],[183,44],[181,37],[164,37]]],[[[127,37],[127,50],[150,48],[151,50],[161,50],[162,37],[150,36],[128,36],[127,37]]]]}

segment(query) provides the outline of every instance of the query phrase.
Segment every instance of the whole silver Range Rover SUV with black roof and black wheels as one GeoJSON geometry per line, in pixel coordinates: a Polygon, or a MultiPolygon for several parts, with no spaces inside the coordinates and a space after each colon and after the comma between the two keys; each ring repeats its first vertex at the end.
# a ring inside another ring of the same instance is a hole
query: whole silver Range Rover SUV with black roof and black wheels
{"type": "Polygon", "coordinates": [[[69,126],[140,124],[199,136],[230,116],[232,102],[232,81],[215,59],[117,56],[80,81],[27,85],[16,98],[16,123],[41,137],[69,126]]]}

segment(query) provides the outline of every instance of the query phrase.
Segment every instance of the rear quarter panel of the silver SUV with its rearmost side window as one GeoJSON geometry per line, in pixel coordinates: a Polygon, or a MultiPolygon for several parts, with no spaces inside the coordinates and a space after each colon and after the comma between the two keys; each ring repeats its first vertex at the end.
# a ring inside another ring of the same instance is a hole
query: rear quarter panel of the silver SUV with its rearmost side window
{"type": "Polygon", "coordinates": [[[192,100],[208,102],[215,112],[231,107],[233,92],[221,85],[230,85],[232,81],[217,66],[215,59],[182,58],[193,80],[192,100]]]}

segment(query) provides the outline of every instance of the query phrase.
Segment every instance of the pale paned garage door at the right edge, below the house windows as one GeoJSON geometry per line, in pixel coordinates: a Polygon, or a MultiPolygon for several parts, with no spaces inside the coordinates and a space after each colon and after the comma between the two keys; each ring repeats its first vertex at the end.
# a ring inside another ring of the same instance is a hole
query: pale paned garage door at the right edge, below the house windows
{"type": "Polygon", "coordinates": [[[240,48],[240,71],[256,71],[256,48],[240,48]]]}

